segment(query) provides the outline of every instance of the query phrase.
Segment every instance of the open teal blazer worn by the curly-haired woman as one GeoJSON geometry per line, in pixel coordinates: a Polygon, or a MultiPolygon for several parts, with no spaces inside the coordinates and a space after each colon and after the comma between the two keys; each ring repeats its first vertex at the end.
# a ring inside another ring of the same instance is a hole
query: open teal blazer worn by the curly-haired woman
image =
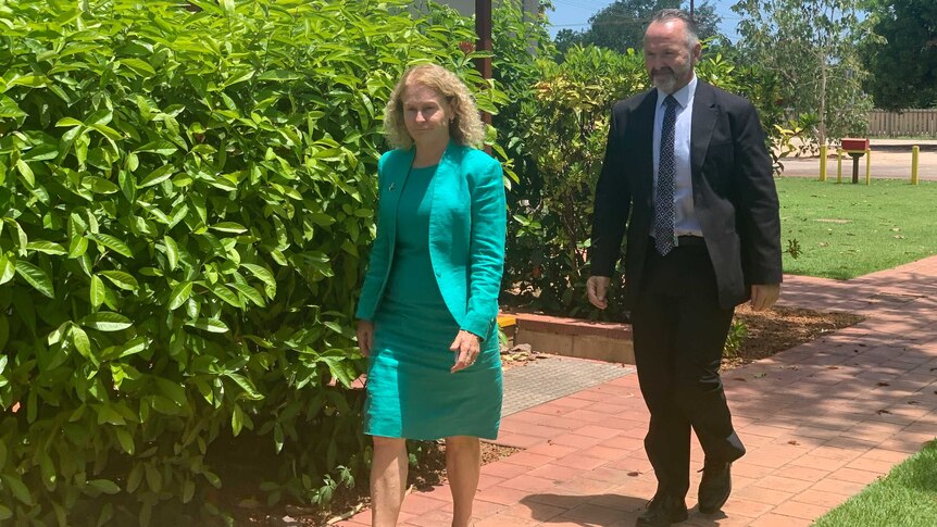
{"type": "MultiPolygon", "coordinates": [[[[415,149],[391,150],[377,164],[377,236],[355,316],[371,321],[393,262],[397,204],[415,149]]],[[[488,339],[498,318],[507,204],[501,164],[449,142],[429,184],[429,259],[446,306],[461,329],[488,339]]]]}

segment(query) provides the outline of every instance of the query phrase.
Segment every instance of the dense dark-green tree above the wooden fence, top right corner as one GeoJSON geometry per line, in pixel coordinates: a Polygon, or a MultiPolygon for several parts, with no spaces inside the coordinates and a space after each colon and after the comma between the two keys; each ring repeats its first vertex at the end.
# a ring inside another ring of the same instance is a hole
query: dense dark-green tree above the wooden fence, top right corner
{"type": "Polygon", "coordinates": [[[883,40],[864,48],[863,63],[875,105],[937,106],[937,2],[877,0],[872,14],[883,40]]]}

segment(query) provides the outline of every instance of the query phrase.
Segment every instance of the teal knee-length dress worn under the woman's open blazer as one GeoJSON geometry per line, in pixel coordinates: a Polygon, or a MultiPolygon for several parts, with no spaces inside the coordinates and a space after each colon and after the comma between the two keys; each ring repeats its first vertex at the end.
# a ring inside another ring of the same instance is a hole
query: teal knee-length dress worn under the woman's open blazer
{"type": "Polygon", "coordinates": [[[442,299],[429,256],[435,172],[436,166],[413,168],[397,203],[393,259],[373,318],[365,434],[495,439],[502,393],[497,336],[482,342],[475,364],[450,373],[455,353],[449,346],[460,326],[442,299]]]}

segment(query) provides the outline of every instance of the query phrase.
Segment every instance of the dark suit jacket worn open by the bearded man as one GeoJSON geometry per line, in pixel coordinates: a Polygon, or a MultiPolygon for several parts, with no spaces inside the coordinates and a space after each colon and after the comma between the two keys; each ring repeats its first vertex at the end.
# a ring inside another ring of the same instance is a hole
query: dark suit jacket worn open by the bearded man
{"type": "MultiPolygon", "coordinates": [[[[655,103],[655,89],[615,103],[596,188],[591,274],[612,276],[627,222],[625,284],[632,302],[640,289],[646,251],[654,250],[649,236],[655,103]]],[[[720,304],[745,302],[752,284],[779,284],[777,191],[764,133],[749,101],[697,84],[690,167],[694,209],[715,269],[720,304]]]]}

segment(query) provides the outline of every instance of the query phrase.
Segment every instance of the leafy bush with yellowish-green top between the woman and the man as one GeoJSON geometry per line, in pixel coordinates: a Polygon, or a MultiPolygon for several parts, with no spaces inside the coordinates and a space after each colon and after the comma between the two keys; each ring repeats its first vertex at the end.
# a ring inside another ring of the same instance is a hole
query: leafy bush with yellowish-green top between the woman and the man
{"type": "Polygon", "coordinates": [[[586,252],[609,115],[615,100],[644,89],[644,66],[634,53],[574,47],[562,64],[542,59],[538,67],[534,100],[522,106],[515,130],[532,161],[514,192],[504,273],[514,297],[508,300],[594,316],[585,300],[586,252]]]}

